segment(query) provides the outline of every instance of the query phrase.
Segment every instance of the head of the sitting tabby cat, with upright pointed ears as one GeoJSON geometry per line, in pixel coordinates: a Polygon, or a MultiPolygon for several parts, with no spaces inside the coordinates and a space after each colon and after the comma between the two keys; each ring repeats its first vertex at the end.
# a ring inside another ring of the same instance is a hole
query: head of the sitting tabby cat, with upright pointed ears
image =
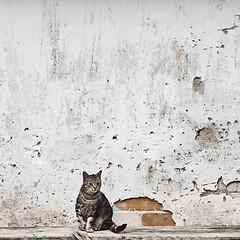
{"type": "Polygon", "coordinates": [[[94,195],[100,191],[101,174],[102,174],[102,170],[100,170],[97,174],[92,174],[92,175],[89,175],[85,171],[83,172],[82,188],[84,192],[86,192],[89,195],[94,195]]]}

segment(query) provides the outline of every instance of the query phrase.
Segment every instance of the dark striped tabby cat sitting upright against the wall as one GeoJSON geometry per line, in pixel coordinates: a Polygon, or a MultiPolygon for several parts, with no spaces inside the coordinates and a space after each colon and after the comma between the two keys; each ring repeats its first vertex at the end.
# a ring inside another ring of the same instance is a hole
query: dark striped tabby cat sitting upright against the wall
{"type": "Polygon", "coordinates": [[[112,207],[106,196],[100,191],[101,174],[102,170],[92,175],[83,172],[83,184],[75,205],[79,229],[86,232],[110,230],[118,233],[123,231],[127,224],[117,226],[112,221],[112,207]]]}

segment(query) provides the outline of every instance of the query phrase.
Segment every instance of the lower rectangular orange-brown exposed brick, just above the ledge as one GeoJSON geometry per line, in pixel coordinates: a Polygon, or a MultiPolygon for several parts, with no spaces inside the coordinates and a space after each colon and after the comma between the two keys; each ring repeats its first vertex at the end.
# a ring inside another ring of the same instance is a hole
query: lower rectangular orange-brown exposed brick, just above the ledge
{"type": "Polygon", "coordinates": [[[175,226],[171,212],[144,213],[142,215],[143,226],[175,226]]]}

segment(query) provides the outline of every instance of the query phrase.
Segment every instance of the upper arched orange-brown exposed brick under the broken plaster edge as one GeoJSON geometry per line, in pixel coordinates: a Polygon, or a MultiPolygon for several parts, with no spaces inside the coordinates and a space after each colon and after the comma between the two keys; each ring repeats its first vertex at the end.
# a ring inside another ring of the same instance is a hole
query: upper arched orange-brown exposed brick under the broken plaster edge
{"type": "Polygon", "coordinates": [[[129,198],[122,201],[117,201],[114,205],[120,210],[140,210],[140,211],[151,211],[161,210],[162,204],[156,200],[148,197],[129,198]]]}

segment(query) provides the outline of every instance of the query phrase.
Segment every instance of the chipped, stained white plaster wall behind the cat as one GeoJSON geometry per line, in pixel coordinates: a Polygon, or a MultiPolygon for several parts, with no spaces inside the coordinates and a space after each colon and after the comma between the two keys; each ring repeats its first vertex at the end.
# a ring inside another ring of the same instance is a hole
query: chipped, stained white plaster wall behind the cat
{"type": "Polygon", "coordinates": [[[2,0],[0,226],[76,224],[99,169],[112,204],[240,224],[239,42],[238,0],[2,0]]]}

